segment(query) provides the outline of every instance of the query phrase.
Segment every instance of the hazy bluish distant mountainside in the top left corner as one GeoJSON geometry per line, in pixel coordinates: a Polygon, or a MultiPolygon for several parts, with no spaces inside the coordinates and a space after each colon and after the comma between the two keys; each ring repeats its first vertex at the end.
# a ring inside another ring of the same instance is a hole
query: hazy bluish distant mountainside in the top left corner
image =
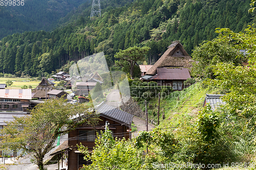
{"type": "Polygon", "coordinates": [[[25,31],[51,31],[60,18],[79,5],[91,5],[88,0],[25,0],[22,4],[18,4],[18,1],[10,3],[3,1],[0,6],[0,38],[25,31]]]}

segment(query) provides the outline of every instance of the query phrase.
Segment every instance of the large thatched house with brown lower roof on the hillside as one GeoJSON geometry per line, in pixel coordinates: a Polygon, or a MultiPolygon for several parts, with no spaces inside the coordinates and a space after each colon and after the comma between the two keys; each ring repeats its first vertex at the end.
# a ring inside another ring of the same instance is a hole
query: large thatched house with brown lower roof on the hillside
{"type": "Polygon", "coordinates": [[[168,46],[159,60],[147,70],[142,81],[155,81],[159,86],[172,86],[174,90],[185,88],[184,81],[190,77],[191,57],[179,41],[168,46]]]}

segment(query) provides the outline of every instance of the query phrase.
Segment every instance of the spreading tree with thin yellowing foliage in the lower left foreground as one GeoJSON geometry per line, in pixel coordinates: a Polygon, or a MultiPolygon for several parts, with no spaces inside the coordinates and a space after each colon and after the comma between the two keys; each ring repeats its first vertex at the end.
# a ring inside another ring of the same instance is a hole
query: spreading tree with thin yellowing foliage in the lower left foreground
{"type": "Polygon", "coordinates": [[[46,100],[32,109],[30,115],[15,117],[7,123],[2,130],[1,147],[30,153],[31,160],[43,170],[44,157],[55,147],[58,135],[67,134],[82,124],[94,125],[97,122],[97,115],[91,113],[89,107],[71,106],[62,98],[46,100]],[[77,114],[79,118],[70,119],[77,114]]]}

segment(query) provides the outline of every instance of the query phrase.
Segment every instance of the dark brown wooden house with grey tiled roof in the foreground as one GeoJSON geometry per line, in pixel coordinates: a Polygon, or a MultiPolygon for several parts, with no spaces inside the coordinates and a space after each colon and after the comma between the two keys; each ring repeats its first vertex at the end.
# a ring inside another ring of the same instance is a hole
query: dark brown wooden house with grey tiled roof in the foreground
{"type": "Polygon", "coordinates": [[[97,106],[96,112],[101,119],[95,127],[78,127],[69,133],[69,148],[72,150],[68,153],[68,169],[78,169],[83,164],[90,164],[90,161],[83,160],[83,156],[76,148],[76,144],[82,143],[92,152],[95,145],[96,132],[104,131],[105,122],[109,122],[109,129],[114,137],[130,138],[130,130],[133,115],[122,110],[116,109],[102,102],[97,106]]]}

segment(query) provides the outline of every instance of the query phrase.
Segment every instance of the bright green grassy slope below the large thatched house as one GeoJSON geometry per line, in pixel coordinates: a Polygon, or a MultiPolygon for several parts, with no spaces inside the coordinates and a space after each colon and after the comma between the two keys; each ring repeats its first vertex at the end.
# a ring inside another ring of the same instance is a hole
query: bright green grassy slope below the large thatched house
{"type": "MultiPolygon", "coordinates": [[[[202,88],[202,82],[198,82],[182,91],[172,92],[167,97],[163,96],[160,100],[160,127],[179,126],[179,122],[185,117],[196,119],[198,111],[203,107],[206,93],[218,94],[219,91],[219,89],[202,88]],[[163,112],[164,120],[162,119],[163,112]]],[[[151,103],[151,106],[147,107],[150,114],[149,119],[154,119],[154,122],[157,123],[158,98],[148,102],[151,103]]]]}

